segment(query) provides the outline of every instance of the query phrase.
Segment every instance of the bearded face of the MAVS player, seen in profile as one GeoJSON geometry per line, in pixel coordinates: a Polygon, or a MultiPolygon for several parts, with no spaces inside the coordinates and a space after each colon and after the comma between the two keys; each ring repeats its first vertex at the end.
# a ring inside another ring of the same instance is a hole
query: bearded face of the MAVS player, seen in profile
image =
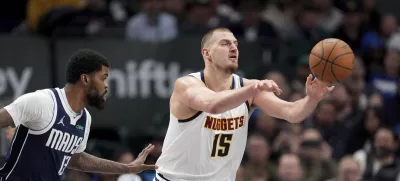
{"type": "Polygon", "coordinates": [[[103,66],[100,71],[93,75],[87,93],[87,100],[90,106],[98,109],[104,108],[108,88],[108,71],[108,68],[103,66]]]}

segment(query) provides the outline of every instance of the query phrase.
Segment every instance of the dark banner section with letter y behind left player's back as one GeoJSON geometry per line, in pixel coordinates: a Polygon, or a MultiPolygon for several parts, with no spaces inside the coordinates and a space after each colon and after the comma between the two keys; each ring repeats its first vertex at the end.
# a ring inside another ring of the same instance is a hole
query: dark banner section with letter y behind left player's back
{"type": "Polygon", "coordinates": [[[45,40],[0,36],[0,106],[51,86],[50,52],[45,40]]]}

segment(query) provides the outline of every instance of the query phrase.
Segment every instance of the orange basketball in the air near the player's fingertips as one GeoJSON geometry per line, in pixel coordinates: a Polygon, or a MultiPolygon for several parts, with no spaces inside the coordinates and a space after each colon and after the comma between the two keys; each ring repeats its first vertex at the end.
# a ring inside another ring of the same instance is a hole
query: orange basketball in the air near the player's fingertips
{"type": "Polygon", "coordinates": [[[353,50],[346,42],[328,38],[313,47],[308,64],[313,75],[320,81],[336,84],[351,75],[354,59],[353,50]]]}

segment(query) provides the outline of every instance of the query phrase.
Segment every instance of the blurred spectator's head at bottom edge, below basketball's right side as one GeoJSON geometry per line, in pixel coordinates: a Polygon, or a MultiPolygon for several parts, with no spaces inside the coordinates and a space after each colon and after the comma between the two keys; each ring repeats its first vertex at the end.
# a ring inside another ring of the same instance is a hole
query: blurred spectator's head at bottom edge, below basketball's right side
{"type": "Polygon", "coordinates": [[[359,163],[351,156],[343,157],[339,162],[337,177],[327,181],[362,181],[359,163]]]}

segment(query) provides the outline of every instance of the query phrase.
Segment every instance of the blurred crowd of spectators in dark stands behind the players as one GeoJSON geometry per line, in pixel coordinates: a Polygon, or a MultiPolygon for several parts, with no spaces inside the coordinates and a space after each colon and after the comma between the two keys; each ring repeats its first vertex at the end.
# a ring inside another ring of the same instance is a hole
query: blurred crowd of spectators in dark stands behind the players
{"type": "MultiPolygon", "coordinates": [[[[394,15],[379,12],[375,0],[9,3],[15,9],[2,6],[5,9],[0,11],[0,31],[9,34],[50,38],[119,36],[163,42],[227,27],[244,41],[278,39],[287,49],[283,63],[272,63],[268,69],[249,74],[276,81],[284,91],[280,98],[287,101],[305,96],[312,47],[324,38],[339,38],[356,54],[351,77],[336,85],[300,124],[256,110],[249,122],[247,149],[237,181],[400,181],[399,24],[394,15]]],[[[149,139],[157,148],[149,163],[160,155],[163,136],[149,139]]],[[[104,156],[99,150],[98,155],[104,156]]],[[[129,163],[135,153],[118,145],[108,158],[129,163]]],[[[153,177],[151,171],[119,176],[68,170],[64,180],[151,181],[153,177]]]]}

